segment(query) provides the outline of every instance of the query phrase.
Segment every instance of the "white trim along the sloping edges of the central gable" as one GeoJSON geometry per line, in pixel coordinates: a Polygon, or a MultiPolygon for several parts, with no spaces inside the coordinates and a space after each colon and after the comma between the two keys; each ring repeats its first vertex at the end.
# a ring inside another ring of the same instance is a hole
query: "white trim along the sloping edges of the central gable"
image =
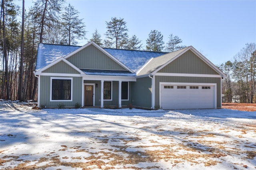
{"type": "Polygon", "coordinates": [[[94,41],[90,41],[89,43],[87,43],[86,45],[80,47],[79,49],[73,51],[72,53],[66,55],[64,58],[67,59],[68,57],[78,53],[79,51],[85,49],[86,47],[90,46],[90,45],[94,45],[94,47],[98,48],[102,53],[106,54],[108,57],[110,57],[112,60],[114,60],[116,63],[118,63],[119,65],[121,65],[122,67],[124,67],[126,70],[129,70],[130,72],[133,72],[130,68],[128,68],[125,64],[123,64],[121,61],[119,61],[118,59],[116,59],[116,57],[112,56],[110,53],[108,53],[106,50],[104,50],[102,47],[100,47],[98,44],[96,44],[94,41]]]}

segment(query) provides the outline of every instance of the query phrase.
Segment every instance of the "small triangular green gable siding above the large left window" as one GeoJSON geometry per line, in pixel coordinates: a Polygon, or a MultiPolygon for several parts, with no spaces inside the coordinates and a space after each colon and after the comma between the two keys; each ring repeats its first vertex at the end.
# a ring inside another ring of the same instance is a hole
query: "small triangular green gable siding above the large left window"
{"type": "Polygon", "coordinates": [[[60,61],[59,63],[54,64],[53,66],[47,68],[43,72],[80,74],[80,72],[69,66],[64,61],[60,61]]]}

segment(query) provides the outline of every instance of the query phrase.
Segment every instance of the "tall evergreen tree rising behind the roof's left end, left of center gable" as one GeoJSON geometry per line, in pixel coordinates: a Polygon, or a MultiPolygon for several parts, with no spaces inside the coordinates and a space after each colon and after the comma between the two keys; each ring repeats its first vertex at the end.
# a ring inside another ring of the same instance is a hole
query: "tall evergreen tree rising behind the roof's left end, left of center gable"
{"type": "Polygon", "coordinates": [[[85,38],[86,31],[82,19],[79,19],[78,10],[68,4],[62,13],[62,42],[67,45],[76,45],[76,39],[85,38]]]}

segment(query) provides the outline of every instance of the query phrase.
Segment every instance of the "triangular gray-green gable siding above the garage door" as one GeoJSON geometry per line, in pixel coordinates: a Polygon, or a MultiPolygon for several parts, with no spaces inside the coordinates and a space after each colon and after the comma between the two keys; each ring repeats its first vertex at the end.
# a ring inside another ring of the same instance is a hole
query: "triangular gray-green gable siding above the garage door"
{"type": "Polygon", "coordinates": [[[208,64],[202,61],[192,51],[187,51],[158,72],[190,73],[190,74],[218,74],[208,64]]]}

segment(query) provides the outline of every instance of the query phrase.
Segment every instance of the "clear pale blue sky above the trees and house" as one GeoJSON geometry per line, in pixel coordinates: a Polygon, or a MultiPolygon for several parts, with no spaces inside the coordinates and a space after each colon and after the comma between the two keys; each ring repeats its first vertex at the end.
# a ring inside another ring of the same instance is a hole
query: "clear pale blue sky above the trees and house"
{"type": "MultiPolygon", "coordinates": [[[[20,2],[21,4],[22,2],[20,2]]],[[[84,18],[87,40],[95,29],[104,39],[106,21],[123,18],[128,35],[136,35],[146,49],[151,30],[182,39],[181,45],[196,48],[213,64],[232,61],[246,43],[256,43],[256,0],[67,0],[84,18]]],[[[32,0],[25,0],[25,8],[32,0]]]]}

